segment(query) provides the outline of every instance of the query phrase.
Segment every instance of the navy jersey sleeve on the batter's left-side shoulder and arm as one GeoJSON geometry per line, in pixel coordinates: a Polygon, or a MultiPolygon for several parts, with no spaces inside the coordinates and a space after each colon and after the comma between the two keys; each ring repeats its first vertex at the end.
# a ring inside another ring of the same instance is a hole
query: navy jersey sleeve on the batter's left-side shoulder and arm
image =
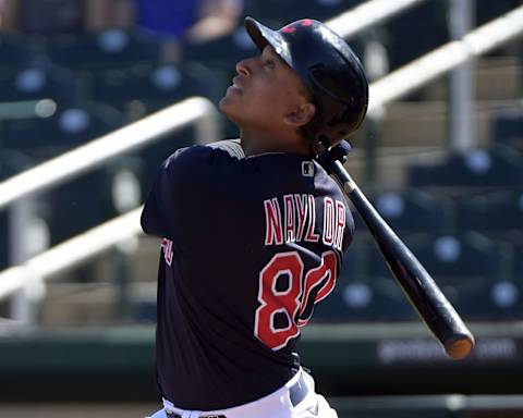
{"type": "MultiPolygon", "coordinates": [[[[217,205],[216,196],[238,170],[243,151],[238,142],[178,150],[160,167],[142,212],[146,234],[175,243],[202,234],[217,205]]],[[[204,232],[205,233],[205,232],[204,232]]]]}

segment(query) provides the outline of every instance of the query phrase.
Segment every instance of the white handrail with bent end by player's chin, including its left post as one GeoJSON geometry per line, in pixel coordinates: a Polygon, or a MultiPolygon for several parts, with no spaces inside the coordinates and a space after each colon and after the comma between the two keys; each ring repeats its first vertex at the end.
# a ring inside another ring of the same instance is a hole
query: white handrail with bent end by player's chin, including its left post
{"type": "MultiPolygon", "coordinates": [[[[9,208],[9,249],[11,261],[15,265],[22,263],[23,266],[31,266],[34,261],[34,258],[26,261],[28,251],[27,239],[24,236],[24,231],[26,231],[31,220],[34,194],[57,186],[86,171],[94,170],[112,158],[157,142],[190,124],[195,125],[196,140],[198,143],[215,142],[218,139],[217,135],[219,132],[217,123],[217,110],[209,100],[205,98],[190,98],[86,145],[80,146],[72,151],[53,158],[21,174],[14,175],[1,183],[0,208],[12,204],[9,208]]],[[[89,241],[88,236],[89,235],[87,235],[84,249],[89,248],[93,254],[98,254],[99,249],[97,245],[101,246],[101,242],[89,241]]],[[[53,250],[54,249],[50,249],[37,256],[36,259],[41,257],[41,259],[45,260],[44,265],[56,262],[57,258],[53,257],[53,250]]],[[[73,254],[63,257],[63,260],[69,260],[68,262],[73,262],[73,259],[75,259],[75,255],[73,254]]],[[[62,263],[59,263],[59,266],[62,266],[62,263]]],[[[21,270],[15,271],[20,272],[21,270]]],[[[31,275],[33,278],[46,276],[42,275],[42,272],[46,271],[45,269],[41,270],[40,273],[36,273],[38,270],[35,271],[31,268],[26,269],[26,271],[33,271],[35,273],[31,275]]],[[[11,269],[1,273],[0,293],[2,293],[2,295],[14,293],[14,298],[11,304],[11,317],[21,322],[32,322],[34,320],[35,309],[31,304],[31,299],[39,294],[38,292],[34,292],[35,288],[41,288],[41,286],[35,286],[34,284],[41,282],[31,280],[31,276],[25,274],[20,275],[19,279],[13,279],[14,275],[16,274],[14,274],[11,269]],[[4,274],[8,276],[5,282],[3,282],[5,278],[4,274]]]]}

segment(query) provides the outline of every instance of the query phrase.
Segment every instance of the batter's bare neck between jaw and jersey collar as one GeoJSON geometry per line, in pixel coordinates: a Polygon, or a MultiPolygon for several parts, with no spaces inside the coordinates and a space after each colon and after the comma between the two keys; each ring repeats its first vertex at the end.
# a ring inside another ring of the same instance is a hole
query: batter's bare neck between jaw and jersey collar
{"type": "Polygon", "coordinates": [[[307,156],[309,149],[296,133],[240,130],[240,139],[246,157],[269,152],[290,152],[307,156]]]}

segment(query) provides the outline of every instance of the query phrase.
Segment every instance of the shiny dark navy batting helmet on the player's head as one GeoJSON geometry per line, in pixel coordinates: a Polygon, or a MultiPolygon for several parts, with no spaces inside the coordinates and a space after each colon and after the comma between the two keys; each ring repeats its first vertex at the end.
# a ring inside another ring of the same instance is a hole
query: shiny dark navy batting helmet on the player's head
{"type": "Polygon", "coordinates": [[[311,91],[317,111],[315,143],[335,145],[357,130],[367,111],[368,83],[343,38],[311,19],[272,30],[246,17],[245,28],[260,50],[271,45],[311,91]]]}

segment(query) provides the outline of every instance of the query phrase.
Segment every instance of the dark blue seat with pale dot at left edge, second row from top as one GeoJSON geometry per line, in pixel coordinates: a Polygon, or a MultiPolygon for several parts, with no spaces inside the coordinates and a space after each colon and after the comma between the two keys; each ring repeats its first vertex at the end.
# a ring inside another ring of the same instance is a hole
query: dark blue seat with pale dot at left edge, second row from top
{"type": "Polygon", "coordinates": [[[0,74],[2,101],[52,99],[59,104],[86,98],[85,83],[66,69],[49,66],[17,67],[0,74]]]}

